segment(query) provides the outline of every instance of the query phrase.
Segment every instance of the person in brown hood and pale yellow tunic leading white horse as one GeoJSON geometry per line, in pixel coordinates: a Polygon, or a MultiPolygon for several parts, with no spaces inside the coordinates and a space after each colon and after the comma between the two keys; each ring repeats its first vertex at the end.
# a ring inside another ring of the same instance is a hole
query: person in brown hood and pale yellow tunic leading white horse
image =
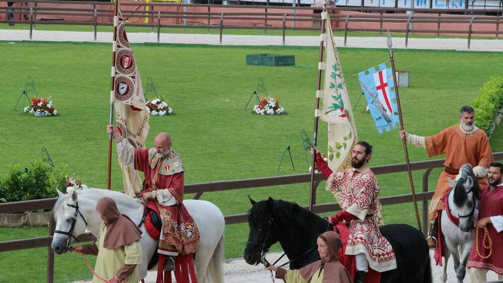
{"type": "MultiPolygon", "coordinates": [[[[98,255],[95,273],[105,279],[117,282],[137,283],[137,265],[141,263],[141,231],[125,215],[119,212],[110,197],[98,200],[96,210],[103,220],[95,244],[76,246],[74,251],[98,255]]],[[[104,282],[96,275],[93,283],[104,282]]]]}

